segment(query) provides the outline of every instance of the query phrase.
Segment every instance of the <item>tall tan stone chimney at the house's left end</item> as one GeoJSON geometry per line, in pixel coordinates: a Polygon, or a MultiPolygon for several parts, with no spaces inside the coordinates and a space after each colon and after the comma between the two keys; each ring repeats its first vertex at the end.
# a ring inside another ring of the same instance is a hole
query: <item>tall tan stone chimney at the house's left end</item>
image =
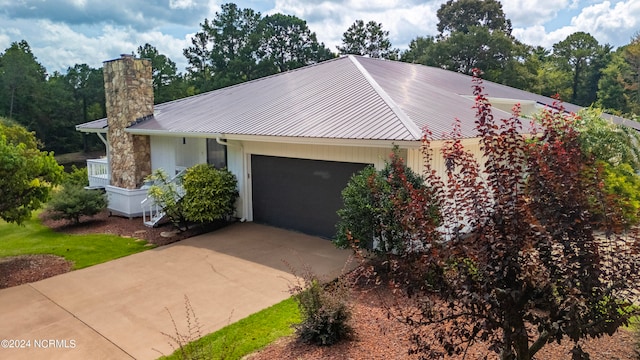
{"type": "Polygon", "coordinates": [[[151,61],[121,55],[119,59],[105,61],[103,72],[111,185],[137,189],[151,173],[149,136],[132,135],[124,130],[153,114],[151,61]]]}

